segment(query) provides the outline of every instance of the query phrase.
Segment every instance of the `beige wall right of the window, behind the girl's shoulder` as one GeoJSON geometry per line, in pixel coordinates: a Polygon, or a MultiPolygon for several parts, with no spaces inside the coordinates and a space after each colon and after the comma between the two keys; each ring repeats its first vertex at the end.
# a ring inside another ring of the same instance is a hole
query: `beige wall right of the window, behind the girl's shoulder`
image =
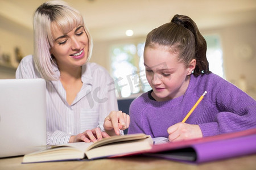
{"type": "Polygon", "coordinates": [[[203,34],[218,33],[224,58],[225,78],[240,87],[245,77],[247,94],[256,99],[256,21],[243,25],[203,31],[203,34]]]}

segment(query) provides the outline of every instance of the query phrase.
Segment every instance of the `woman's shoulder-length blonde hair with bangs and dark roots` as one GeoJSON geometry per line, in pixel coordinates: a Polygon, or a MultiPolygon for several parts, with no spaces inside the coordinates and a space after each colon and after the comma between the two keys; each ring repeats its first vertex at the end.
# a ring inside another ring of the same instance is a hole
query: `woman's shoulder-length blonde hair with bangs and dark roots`
{"type": "MultiPolygon", "coordinates": [[[[58,80],[56,61],[49,50],[53,46],[52,24],[62,32],[68,33],[73,28],[83,25],[89,41],[88,57],[92,56],[92,38],[84,25],[79,11],[63,1],[49,1],[40,5],[34,14],[34,61],[36,69],[46,80],[58,80]]],[[[86,61],[86,62],[87,62],[86,61]]]]}

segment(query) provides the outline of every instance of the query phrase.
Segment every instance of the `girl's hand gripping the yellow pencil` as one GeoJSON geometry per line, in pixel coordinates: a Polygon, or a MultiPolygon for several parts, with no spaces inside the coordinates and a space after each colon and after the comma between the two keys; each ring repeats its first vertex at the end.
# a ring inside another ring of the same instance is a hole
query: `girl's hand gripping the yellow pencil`
{"type": "Polygon", "coordinates": [[[171,142],[203,137],[199,125],[190,125],[182,122],[170,126],[167,132],[169,134],[169,141],[171,142]]]}

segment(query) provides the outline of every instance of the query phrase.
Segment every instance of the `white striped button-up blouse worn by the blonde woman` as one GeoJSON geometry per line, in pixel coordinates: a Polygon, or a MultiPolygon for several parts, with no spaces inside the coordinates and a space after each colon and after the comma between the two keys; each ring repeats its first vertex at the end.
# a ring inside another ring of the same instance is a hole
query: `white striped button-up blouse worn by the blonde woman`
{"type": "MultiPolygon", "coordinates": [[[[22,59],[16,78],[41,78],[32,55],[22,59]]],[[[68,143],[71,135],[96,127],[104,131],[105,117],[118,111],[114,80],[108,71],[96,63],[86,63],[81,79],[82,88],[71,105],[60,80],[46,82],[47,145],[68,143]]]]}

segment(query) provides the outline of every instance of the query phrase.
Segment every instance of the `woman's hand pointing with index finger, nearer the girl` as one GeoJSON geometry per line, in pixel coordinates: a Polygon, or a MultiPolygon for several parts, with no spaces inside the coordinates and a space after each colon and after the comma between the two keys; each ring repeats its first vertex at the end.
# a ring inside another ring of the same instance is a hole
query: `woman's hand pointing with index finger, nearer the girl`
{"type": "Polygon", "coordinates": [[[120,130],[125,130],[129,127],[130,116],[122,111],[112,111],[105,118],[104,129],[109,135],[119,135],[120,130]]]}

